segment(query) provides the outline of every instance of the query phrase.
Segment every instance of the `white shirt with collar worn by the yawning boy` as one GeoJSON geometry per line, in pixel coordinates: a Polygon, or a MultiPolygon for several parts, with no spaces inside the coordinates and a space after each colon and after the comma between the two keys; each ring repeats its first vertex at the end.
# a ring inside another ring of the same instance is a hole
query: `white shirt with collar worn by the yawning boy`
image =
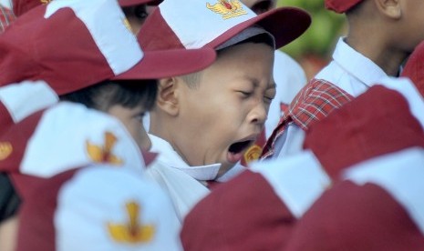
{"type": "Polygon", "coordinates": [[[168,192],[181,223],[191,208],[209,194],[209,189],[202,181],[225,182],[245,170],[243,166],[234,166],[223,176],[215,179],[221,164],[189,166],[169,142],[158,136],[149,136],[150,151],[158,153],[159,156],[147,169],[147,175],[168,192]]]}

